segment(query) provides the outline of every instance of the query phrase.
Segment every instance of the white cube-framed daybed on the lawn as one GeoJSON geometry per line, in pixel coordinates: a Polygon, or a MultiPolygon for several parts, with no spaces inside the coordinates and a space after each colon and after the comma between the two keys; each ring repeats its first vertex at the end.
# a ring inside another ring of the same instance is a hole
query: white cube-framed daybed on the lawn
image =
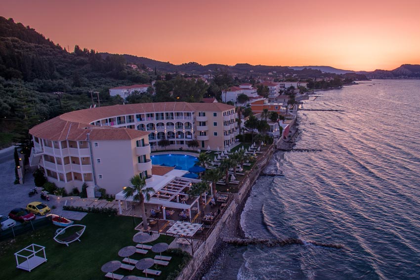
{"type": "Polygon", "coordinates": [[[40,264],[46,262],[45,247],[37,244],[31,244],[22,250],[16,252],[16,268],[31,272],[40,264]],[[25,261],[19,262],[24,259],[25,261]]]}

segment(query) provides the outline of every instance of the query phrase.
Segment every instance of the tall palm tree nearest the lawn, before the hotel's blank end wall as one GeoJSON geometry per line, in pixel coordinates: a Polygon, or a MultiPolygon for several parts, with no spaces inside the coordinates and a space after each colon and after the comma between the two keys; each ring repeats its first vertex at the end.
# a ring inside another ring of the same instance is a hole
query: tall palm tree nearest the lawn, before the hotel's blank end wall
{"type": "Polygon", "coordinates": [[[141,178],[140,175],[134,175],[130,179],[131,186],[125,187],[123,190],[124,198],[133,198],[133,201],[137,201],[140,204],[141,218],[143,219],[143,230],[147,231],[147,217],[146,210],[144,209],[144,200],[150,200],[150,193],[154,192],[153,188],[145,188],[146,180],[141,178]]]}

